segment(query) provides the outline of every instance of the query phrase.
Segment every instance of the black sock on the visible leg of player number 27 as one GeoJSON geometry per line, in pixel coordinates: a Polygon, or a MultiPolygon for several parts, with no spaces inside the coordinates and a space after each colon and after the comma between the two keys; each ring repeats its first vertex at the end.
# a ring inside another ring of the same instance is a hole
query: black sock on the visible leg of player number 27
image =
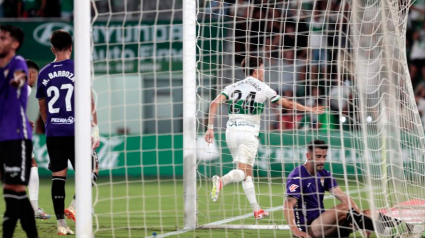
{"type": "Polygon", "coordinates": [[[65,182],[66,177],[53,176],[52,178],[52,200],[56,219],[65,219],[65,182]]]}

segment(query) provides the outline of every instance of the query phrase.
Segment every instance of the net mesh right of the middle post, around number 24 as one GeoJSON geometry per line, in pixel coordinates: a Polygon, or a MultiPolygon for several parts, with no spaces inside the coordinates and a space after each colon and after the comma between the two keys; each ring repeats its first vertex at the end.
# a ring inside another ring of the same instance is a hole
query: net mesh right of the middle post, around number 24
{"type": "MultiPolygon", "coordinates": [[[[206,130],[210,102],[225,86],[245,78],[240,63],[248,55],[264,59],[264,81],[283,97],[329,107],[317,116],[267,105],[255,189],[260,206],[278,212],[256,224],[282,224],[285,178],[304,163],[306,144],[315,139],[329,143],[326,168],[360,209],[394,215],[407,207],[404,214],[423,213],[423,207],[409,205],[422,201],[425,192],[423,127],[406,59],[411,4],[241,0],[204,1],[200,6],[200,134],[206,130]],[[216,27],[221,38],[203,34],[216,27]],[[217,40],[221,50],[205,47],[217,40]]],[[[215,144],[198,141],[199,207],[208,209],[199,214],[199,222],[249,225],[255,221],[239,184],[226,186],[217,203],[209,200],[211,176],[234,168],[225,139],[228,106],[217,113],[215,144]]],[[[325,199],[327,208],[338,203],[332,196],[325,199]]],[[[423,215],[415,219],[423,221],[423,215]]],[[[406,230],[391,232],[386,235],[406,230]]]]}

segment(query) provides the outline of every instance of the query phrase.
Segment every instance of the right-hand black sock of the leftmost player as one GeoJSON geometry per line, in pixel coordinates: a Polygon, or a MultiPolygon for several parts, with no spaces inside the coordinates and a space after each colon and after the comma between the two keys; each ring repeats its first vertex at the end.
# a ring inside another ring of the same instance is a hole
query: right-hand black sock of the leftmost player
{"type": "Polygon", "coordinates": [[[27,192],[19,192],[19,219],[22,229],[27,233],[27,237],[37,238],[37,226],[35,224],[34,209],[28,199],[27,192]]]}

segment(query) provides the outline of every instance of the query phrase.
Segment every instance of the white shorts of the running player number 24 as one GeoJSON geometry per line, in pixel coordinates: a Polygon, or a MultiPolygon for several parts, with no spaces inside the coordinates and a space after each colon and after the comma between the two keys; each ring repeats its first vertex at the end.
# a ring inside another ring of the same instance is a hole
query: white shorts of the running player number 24
{"type": "Polygon", "coordinates": [[[232,154],[233,163],[254,166],[258,150],[258,134],[250,131],[226,131],[226,142],[232,154]]]}

